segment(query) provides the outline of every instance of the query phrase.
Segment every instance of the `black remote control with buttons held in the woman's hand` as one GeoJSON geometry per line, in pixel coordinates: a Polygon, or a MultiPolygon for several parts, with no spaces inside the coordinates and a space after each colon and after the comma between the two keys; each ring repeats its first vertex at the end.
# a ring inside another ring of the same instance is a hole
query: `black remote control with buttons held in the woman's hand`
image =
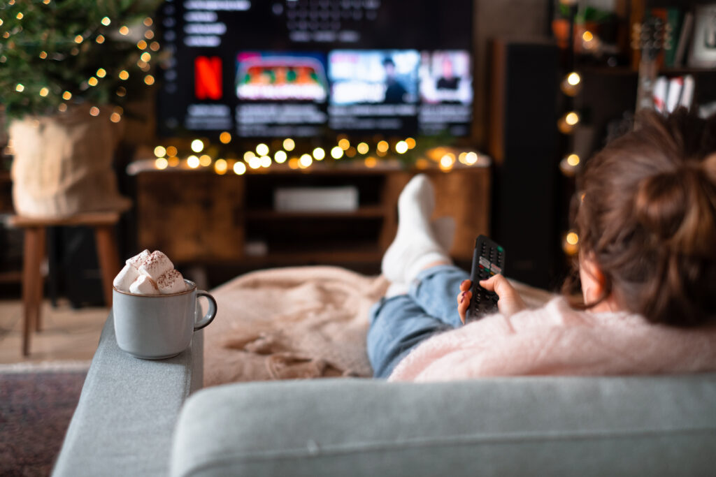
{"type": "Polygon", "coordinates": [[[480,235],[475,239],[473,267],[470,270],[470,281],[472,281],[470,286],[472,287],[473,297],[470,300],[465,323],[497,311],[497,293],[489,292],[481,287],[480,280],[486,280],[493,275],[502,273],[504,267],[505,249],[503,247],[500,247],[485,235],[480,235]]]}

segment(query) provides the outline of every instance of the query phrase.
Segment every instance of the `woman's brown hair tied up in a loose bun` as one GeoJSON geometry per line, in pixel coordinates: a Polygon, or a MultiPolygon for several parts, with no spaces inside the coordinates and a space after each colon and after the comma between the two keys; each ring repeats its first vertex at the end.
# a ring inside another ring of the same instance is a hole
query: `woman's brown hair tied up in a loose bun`
{"type": "Polygon", "coordinates": [[[716,320],[716,115],[646,112],[586,164],[580,253],[604,293],[652,323],[716,320]]]}

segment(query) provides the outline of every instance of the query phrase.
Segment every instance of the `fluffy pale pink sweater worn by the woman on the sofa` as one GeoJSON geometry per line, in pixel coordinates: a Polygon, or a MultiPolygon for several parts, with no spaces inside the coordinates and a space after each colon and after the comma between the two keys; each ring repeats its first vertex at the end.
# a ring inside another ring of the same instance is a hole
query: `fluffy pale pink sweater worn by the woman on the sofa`
{"type": "Polygon", "coordinates": [[[652,325],[639,315],[576,311],[557,297],[543,308],[511,317],[490,315],[425,340],[389,380],[715,370],[716,325],[652,325]]]}

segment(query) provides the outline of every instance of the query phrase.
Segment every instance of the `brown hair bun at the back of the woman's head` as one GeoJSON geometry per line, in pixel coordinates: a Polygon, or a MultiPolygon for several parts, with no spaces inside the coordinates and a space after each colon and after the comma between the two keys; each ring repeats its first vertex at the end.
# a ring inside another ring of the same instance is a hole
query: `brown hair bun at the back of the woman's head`
{"type": "Polygon", "coordinates": [[[701,167],[684,164],[642,180],[634,214],[657,239],[679,247],[680,252],[712,255],[715,218],[709,195],[713,188],[701,167]]]}

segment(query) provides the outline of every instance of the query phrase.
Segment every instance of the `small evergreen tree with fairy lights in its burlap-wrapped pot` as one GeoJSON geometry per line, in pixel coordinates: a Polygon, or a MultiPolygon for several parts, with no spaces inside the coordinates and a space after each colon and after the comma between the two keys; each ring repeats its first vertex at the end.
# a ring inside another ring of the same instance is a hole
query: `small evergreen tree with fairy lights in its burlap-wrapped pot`
{"type": "Polygon", "coordinates": [[[123,210],[111,168],[122,104],[154,83],[157,0],[8,0],[0,5],[0,108],[16,212],[123,210]]]}

